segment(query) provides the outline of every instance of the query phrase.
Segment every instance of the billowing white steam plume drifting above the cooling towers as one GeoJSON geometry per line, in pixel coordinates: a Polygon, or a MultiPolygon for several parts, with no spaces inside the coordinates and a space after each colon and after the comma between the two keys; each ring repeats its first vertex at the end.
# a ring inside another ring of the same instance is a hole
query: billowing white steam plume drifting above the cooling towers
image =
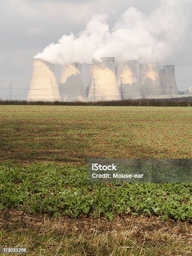
{"type": "Polygon", "coordinates": [[[58,44],[50,44],[34,58],[54,64],[88,63],[92,58],[115,57],[127,61],[161,62],[182,50],[189,22],[190,0],[161,0],[161,6],[149,15],[128,8],[114,27],[108,15],[95,15],[79,36],[63,35],[58,44]]]}

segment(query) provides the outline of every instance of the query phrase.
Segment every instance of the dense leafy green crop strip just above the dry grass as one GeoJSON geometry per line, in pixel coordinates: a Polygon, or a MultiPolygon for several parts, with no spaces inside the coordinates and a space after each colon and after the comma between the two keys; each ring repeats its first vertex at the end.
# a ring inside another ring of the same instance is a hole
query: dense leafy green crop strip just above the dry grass
{"type": "Polygon", "coordinates": [[[86,166],[0,165],[0,209],[51,215],[156,215],[192,220],[192,184],[89,184],[86,166]]]}

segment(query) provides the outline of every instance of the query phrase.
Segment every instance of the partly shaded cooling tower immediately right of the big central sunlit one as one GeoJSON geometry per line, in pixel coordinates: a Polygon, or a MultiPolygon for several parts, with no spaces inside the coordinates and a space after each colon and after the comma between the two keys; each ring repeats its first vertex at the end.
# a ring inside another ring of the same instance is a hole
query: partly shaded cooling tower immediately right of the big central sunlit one
{"type": "Polygon", "coordinates": [[[142,97],[138,82],[137,61],[118,61],[117,81],[122,99],[139,99],[142,97]]]}

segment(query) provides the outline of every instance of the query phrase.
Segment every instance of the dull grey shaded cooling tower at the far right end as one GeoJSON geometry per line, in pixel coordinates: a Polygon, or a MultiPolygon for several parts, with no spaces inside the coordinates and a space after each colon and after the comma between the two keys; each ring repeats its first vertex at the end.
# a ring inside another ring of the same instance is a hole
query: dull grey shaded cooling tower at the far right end
{"type": "Polygon", "coordinates": [[[174,65],[159,67],[159,81],[163,94],[178,94],[174,65]]]}

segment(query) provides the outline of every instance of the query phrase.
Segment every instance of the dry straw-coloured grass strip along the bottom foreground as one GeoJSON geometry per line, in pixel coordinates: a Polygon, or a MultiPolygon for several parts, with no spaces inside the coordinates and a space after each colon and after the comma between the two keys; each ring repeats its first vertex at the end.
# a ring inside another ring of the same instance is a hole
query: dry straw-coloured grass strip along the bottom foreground
{"type": "MultiPolygon", "coordinates": [[[[138,218],[120,226],[115,220],[111,230],[108,221],[97,220],[97,225],[89,228],[77,228],[79,220],[64,218],[51,219],[43,216],[41,220],[25,216],[23,220],[2,226],[0,231],[1,246],[27,247],[29,255],[54,256],[124,256],[124,255],[192,255],[192,226],[185,232],[178,231],[179,223],[163,224],[159,228],[148,228],[138,218]],[[25,223],[25,224],[24,224],[25,223]],[[105,229],[104,229],[105,225],[105,229]],[[147,227],[147,228],[146,228],[147,227]]],[[[148,224],[154,220],[148,219],[148,224]]],[[[86,222],[86,221],[85,221],[86,222]]]]}

